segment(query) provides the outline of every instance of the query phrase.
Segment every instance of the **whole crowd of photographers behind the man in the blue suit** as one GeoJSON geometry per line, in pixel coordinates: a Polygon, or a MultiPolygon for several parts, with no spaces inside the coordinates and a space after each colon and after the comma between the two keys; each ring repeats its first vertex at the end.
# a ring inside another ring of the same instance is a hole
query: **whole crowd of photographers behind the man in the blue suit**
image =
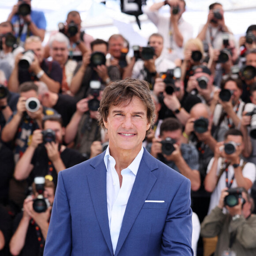
{"type": "Polygon", "coordinates": [[[143,146],[191,181],[194,255],[256,255],[256,25],[237,41],[213,3],[193,38],[185,6],[145,6],[147,47],[94,40],[78,11],[43,46],[31,0],[0,23],[0,255],[43,254],[58,173],[106,149],[102,91],[127,77],[149,83],[156,108],[143,146]]]}

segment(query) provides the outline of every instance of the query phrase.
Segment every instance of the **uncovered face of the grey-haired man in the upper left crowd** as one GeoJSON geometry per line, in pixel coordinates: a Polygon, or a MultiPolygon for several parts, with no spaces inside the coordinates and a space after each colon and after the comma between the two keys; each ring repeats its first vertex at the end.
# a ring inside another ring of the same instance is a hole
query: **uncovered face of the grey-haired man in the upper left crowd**
{"type": "Polygon", "coordinates": [[[53,41],[50,55],[53,57],[53,60],[57,61],[60,65],[64,65],[68,60],[68,45],[64,42],[53,41]]]}

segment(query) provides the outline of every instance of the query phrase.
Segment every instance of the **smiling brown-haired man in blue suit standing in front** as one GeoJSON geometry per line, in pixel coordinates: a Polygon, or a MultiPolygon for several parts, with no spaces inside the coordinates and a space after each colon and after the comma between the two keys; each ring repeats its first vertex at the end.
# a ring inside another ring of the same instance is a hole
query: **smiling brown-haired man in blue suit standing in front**
{"type": "Polygon", "coordinates": [[[45,256],[193,255],[190,181],[142,147],[154,122],[147,82],[105,88],[105,152],[61,171],[45,256]]]}

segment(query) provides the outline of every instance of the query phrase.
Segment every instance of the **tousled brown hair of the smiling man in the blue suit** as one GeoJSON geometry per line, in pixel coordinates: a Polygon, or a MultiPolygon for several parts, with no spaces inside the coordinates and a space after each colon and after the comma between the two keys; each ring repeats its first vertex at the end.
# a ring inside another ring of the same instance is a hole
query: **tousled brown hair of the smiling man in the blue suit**
{"type": "MultiPolygon", "coordinates": [[[[103,129],[105,129],[103,120],[106,121],[109,115],[109,108],[111,105],[128,105],[133,97],[139,98],[147,109],[147,120],[150,122],[151,127],[154,124],[155,106],[151,98],[149,84],[144,80],[127,78],[118,80],[111,85],[107,86],[102,94],[102,100],[98,109],[99,117],[98,122],[103,129]]],[[[147,130],[146,136],[150,133],[147,130]]]]}

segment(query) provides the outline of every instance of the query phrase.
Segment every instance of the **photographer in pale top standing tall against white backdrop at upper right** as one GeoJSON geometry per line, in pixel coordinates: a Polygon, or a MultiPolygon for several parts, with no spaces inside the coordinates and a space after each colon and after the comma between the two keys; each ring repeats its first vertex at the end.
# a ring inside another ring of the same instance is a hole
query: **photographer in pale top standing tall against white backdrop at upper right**
{"type": "Polygon", "coordinates": [[[197,38],[211,44],[213,48],[217,48],[216,40],[222,38],[223,33],[232,34],[226,26],[222,4],[210,4],[207,22],[200,28],[197,38]]]}

